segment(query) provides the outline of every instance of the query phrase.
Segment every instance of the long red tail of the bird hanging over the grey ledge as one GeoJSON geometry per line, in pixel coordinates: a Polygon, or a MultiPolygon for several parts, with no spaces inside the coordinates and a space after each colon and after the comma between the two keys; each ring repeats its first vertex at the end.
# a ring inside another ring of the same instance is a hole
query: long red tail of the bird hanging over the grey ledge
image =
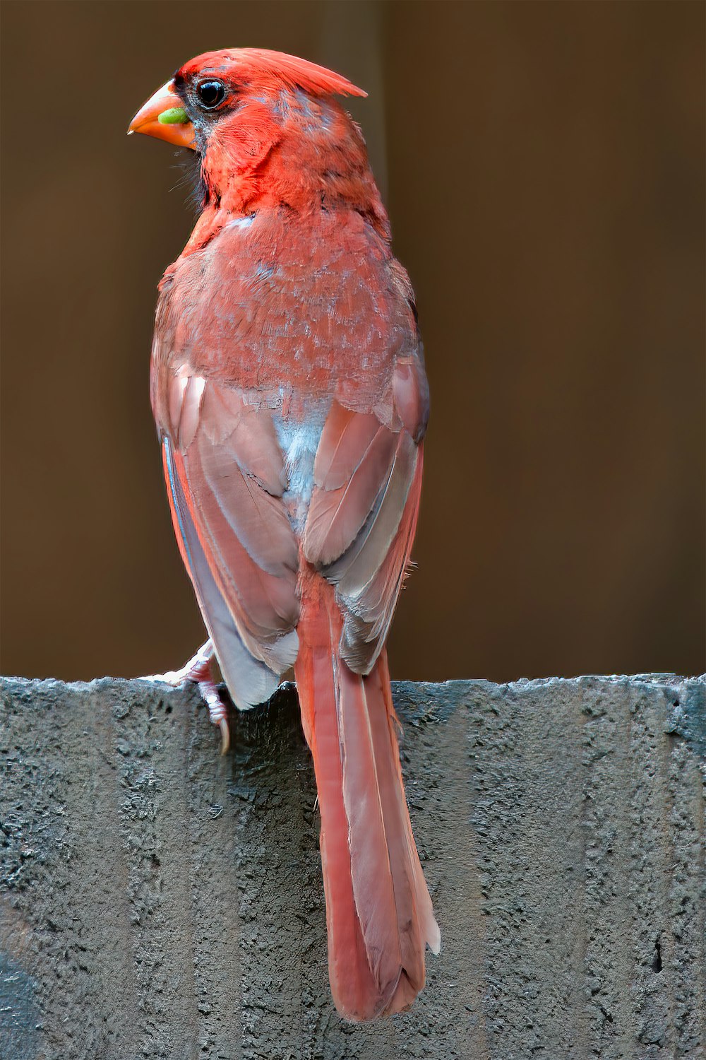
{"type": "Polygon", "coordinates": [[[408,1008],[440,936],[410,824],[384,650],[367,676],[339,656],[341,612],[305,584],[294,666],[321,808],[328,967],[346,1020],[408,1008]]]}

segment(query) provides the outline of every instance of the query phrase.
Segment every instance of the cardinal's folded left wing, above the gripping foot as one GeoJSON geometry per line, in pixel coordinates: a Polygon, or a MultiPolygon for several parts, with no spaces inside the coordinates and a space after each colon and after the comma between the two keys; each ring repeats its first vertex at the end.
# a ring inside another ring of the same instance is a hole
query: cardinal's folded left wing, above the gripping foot
{"type": "Polygon", "coordinates": [[[298,548],[272,414],[181,368],[162,424],[173,519],[218,661],[240,707],[296,658],[298,548]]]}

